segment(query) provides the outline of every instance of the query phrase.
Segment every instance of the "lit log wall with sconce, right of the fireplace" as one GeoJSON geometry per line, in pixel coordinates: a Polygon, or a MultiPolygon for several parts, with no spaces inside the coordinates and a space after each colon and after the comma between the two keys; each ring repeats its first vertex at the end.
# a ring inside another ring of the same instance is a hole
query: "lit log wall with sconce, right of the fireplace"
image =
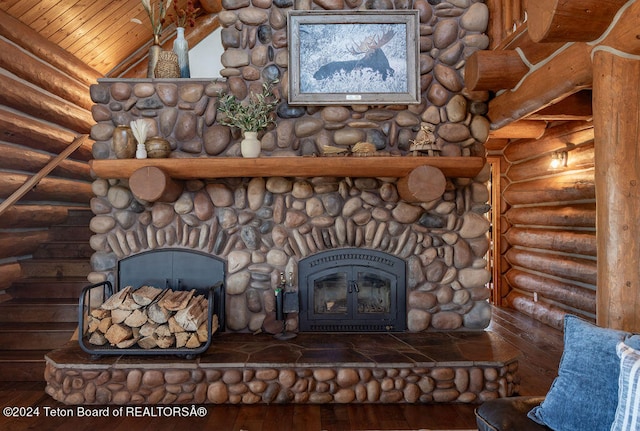
{"type": "Polygon", "coordinates": [[[566,313],[595,320],[593,139],[591,123],[568,122],[502,151],[501,305],[556,328],[566,313]],[[553,170],[556,151],[568,163],[553,170]]]}

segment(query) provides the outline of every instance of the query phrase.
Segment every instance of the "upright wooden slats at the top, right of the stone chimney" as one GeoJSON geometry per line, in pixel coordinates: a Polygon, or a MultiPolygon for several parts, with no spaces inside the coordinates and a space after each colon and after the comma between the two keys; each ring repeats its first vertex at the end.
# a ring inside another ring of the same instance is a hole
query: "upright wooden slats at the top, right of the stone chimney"
{"type": "Polygon", "coordinates": [[[496,48],[527,20],[527,0],[487,0],[490,24],[487,33],[496,48]]]}

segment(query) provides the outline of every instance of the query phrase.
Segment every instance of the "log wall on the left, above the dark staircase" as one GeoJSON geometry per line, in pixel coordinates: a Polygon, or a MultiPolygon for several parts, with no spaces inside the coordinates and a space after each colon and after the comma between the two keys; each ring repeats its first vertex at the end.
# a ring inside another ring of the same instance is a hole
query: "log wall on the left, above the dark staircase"
{"type": "MultiPolygon", "coordinates": [[[[89,86],[98,72],[0,11],[0,201],[89,134],[89,86]]],[[[67,209],[88,207],[93,195],[81,146],[17,205],[0,214],[0,293],[20,278],[19,262],[50,238],[67,209]]]]}

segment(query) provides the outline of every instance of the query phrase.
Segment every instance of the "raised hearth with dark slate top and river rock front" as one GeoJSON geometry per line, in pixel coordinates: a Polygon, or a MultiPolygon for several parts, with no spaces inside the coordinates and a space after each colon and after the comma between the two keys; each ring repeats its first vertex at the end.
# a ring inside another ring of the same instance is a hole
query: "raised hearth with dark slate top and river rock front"
{"type": "Polygon", "coordinates": [[[46,355],[65,404],[481,402],[517,392],[520,352],[488,332],[216,334],[195,358],[46,355]]]}

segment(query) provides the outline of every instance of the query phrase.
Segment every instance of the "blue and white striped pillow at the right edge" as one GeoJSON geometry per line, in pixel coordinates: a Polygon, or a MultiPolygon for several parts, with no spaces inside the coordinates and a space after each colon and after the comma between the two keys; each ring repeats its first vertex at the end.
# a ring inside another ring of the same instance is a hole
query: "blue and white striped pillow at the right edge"
{"type": "Polygon", "coordinates": [[[618,343],[620,382],[618,408],[611,431],[640,429],[640,351],[618,343]]]}

